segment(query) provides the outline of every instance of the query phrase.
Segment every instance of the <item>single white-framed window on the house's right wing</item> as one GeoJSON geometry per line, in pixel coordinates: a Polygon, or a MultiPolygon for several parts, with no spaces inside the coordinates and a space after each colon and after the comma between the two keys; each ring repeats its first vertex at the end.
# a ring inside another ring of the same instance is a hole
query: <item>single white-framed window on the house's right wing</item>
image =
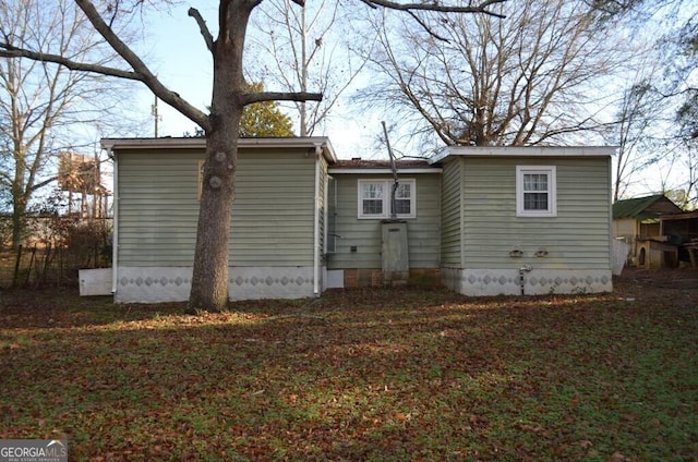
{"type": "Polygon", "coordinates": [[[557,216],[554,166],[516,167],[516,216],[557,216]]]}

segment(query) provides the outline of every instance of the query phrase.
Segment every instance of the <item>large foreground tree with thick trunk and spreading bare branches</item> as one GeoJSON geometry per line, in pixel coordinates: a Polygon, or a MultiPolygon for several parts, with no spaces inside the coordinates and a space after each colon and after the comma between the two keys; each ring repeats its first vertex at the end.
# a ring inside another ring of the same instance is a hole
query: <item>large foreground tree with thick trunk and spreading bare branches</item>
{"type": "MultiPolygon", "coordinates": [[[[401,3],[390,0],[361,0],[371,8],[449,13],[486,13],[488,8],[505,0],[480,0],[461,5],[438,2],[401,3]]],[[[196,232],[196,247],[189,309],[219,311],[226,307],[228,294],[228,238],[230,210],[234,198],[238,138],[242,110],[246,105],[269,100],[321,100],[310,93],[249,92],[243,78],[243,50],[250,15],[262,0],[220,0],[217,36],[208,28],[200,12],[189,10],[201,29],[205,48],[213,57],[213,92],[206,113],[167,88],[146,63],[118,36],[111,25],[123,11],[123,0],[93,2],[75,0],[92,25],[128,63],[124,69],[96,62],[83,62],[70,56],[46,54],[17,44],[11,35],[0,37],[0,56],[51,61],[69,69],[96,72],[145,84],[160,100],[170,105],[201,126],[206,136],[206,160],[203,168],[202,196],[196,232]]],[[[131,3],[143,4],[142,0],[131,3]]],[[[303,0],[294,0],[300,8],[303,0]]]]}

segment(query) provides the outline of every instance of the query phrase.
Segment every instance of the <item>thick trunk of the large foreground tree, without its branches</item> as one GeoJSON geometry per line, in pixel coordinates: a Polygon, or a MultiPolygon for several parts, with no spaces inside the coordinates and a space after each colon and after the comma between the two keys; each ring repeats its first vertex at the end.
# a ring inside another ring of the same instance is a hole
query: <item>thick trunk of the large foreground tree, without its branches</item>
{"type": "Polygon", "coordinates": [[[228,239],[234,198],[238,135],[244,108],[242,52],[251,9],[233,0],[220,12],[213,44],[210,130],[206,133],[202,197],[188,311],[219,312],[228,304],[228,239]]]}

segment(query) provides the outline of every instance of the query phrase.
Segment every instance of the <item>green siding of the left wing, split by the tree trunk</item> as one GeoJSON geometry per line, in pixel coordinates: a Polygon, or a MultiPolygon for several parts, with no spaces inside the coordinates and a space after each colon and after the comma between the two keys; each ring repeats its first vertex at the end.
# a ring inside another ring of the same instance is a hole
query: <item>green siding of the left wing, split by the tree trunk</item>
{"type": "MultiPolygon", "coordinates": [[[[306,154],[306,149],[240,150],[231,266],[312,265],[315,156],[306,154]]],[[[203,150],[117,155],[119,265],[191,266],[203,150]]]]}

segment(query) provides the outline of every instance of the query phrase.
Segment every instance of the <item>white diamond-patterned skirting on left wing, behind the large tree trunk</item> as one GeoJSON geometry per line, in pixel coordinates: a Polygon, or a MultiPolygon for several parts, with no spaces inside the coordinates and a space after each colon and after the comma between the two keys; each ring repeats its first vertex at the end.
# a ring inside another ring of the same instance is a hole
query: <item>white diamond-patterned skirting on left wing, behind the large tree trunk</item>
{"type": "MultiPolygon", "coordinates": [[[[185,302],[190,267],[119,267],[116,303],[185,302]]],[[[313,296],[312,267],[232,267],[230,300],[303,299],[313,296]]]]}

